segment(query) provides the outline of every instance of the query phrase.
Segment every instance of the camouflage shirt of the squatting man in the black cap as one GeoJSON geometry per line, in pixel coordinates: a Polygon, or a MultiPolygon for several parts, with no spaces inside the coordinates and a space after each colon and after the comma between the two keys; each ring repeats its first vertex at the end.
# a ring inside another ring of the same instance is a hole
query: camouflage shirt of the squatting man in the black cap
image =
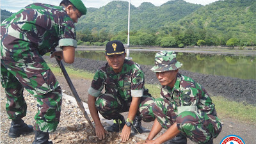
{"type": "Polygon", "coordinates": [[[137,63],[125,60],[122,71],[118,74],[106,63],[95,73],[88,93],[99,97],[105,88],[105,93],[128,100],[143,96],[144,82],[144,73],[137,63]]]}

